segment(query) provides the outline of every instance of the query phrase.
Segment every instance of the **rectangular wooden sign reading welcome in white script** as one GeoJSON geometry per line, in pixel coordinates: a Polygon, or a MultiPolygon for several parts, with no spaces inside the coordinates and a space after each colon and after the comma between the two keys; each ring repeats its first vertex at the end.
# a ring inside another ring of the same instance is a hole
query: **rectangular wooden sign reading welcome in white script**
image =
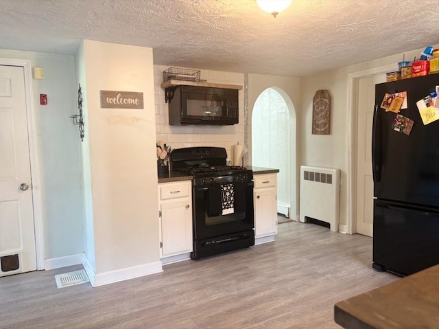
{"type": "Polygon", "coordinates": [[[143,93],[102,90],[101,109],[143,109],[143,93]]]}

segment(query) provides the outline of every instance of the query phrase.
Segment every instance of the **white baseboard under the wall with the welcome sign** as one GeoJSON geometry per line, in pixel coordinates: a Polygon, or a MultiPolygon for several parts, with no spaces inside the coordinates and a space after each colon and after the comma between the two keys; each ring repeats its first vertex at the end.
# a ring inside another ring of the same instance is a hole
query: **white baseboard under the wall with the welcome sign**
{"type": "Polygon", "coordinates": [[[126,269],[97,273],[94,275],[93,280],[91,277],[89,277],[89,279],[92,286],[104,286],[104,284],[130,280],[134,279],[134,277],[142,277],[160,272],[163,272],[162,262],[158,261],[139,266],[132,266],[126,269]]]}

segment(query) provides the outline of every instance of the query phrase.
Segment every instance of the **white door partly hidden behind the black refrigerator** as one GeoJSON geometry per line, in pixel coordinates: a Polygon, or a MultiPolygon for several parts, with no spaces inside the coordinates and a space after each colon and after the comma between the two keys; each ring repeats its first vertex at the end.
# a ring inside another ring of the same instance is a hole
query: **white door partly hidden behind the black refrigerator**
{"type": "Polygon", "coordinates": [[[357,104],[357,233],[372,236],[373,178],[372,123],[375,84],[385,82],[385,74],[360,78],[357,104]]]}

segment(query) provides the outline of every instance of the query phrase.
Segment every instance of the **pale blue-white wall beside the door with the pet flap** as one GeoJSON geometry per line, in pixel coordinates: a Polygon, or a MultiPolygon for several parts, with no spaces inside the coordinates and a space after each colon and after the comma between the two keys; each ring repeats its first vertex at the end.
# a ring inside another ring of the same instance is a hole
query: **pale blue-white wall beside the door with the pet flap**
{"type": "Polygon", "coordinates": [[[45,259],[84,252],[82,184],[73,56],[0,49],[0,57],[30,60],[43,67],[44,80],[33,80],[45,259]],[[40,93],[48,104],[40,105],[40,93]]]}

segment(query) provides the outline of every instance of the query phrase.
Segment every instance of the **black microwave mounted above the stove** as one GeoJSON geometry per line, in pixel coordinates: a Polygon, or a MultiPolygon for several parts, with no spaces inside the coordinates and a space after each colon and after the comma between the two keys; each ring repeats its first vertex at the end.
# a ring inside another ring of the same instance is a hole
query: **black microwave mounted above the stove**
{"type": "Polygon", "coordinates": [[[225,126],[239,121],[238,90],[180,85],[169,100],[169,124],[225,126]]]}

